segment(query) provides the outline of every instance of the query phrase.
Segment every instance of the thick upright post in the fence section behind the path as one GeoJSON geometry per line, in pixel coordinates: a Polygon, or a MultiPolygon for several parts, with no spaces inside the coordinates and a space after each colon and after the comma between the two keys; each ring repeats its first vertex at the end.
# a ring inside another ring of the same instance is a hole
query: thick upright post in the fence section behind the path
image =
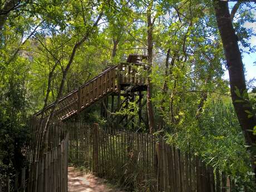
{"type": "Polygon", "coordinates": [[[92,171],[99,173],[99,124],[93,124],[92,136],[92,171]]]}

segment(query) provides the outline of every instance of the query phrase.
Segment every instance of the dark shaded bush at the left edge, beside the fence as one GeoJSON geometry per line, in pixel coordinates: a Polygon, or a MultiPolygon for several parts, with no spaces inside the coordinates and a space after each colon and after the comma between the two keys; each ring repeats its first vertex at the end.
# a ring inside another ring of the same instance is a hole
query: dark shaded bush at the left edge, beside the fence
{"type": "Polygon", "coordinates": [[[21,147],[28,139],[26,125],[26,64],[19,59],[9,65],[0,87],[0,178],[14,179],[23,166],[21,147]]]}

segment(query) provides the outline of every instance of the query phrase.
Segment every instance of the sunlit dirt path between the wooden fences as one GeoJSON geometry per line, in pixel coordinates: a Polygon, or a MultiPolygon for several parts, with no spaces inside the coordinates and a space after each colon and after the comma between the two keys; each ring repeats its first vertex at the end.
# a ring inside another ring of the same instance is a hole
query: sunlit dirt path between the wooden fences
{"type": "Polygon", "coordinates": [[[92,174],[85,174],[73,167],[68,168],[68,192],[124,192],[113,189],[105,183],[105,179],[92,174]]]}

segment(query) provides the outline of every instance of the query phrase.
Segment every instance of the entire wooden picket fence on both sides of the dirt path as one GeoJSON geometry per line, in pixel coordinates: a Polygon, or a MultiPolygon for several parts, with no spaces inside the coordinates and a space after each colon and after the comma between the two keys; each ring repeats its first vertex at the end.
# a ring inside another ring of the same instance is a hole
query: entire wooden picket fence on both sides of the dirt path
{"type": "MultiPolygon", "coordinates": [[[[87,122],[56,123],[50,131],[51,150],[41,159],[35,158],[40,145],[29,143],[31,146],[22,149],[29,156],[28,192],[66,192],[68,161],[140,191],[236,190],[233,178],[206,165],[198,155],[167,144],[160,136],[87,122]]],[[[0,179],[0,189],[5,180],[0,179]]]]}

